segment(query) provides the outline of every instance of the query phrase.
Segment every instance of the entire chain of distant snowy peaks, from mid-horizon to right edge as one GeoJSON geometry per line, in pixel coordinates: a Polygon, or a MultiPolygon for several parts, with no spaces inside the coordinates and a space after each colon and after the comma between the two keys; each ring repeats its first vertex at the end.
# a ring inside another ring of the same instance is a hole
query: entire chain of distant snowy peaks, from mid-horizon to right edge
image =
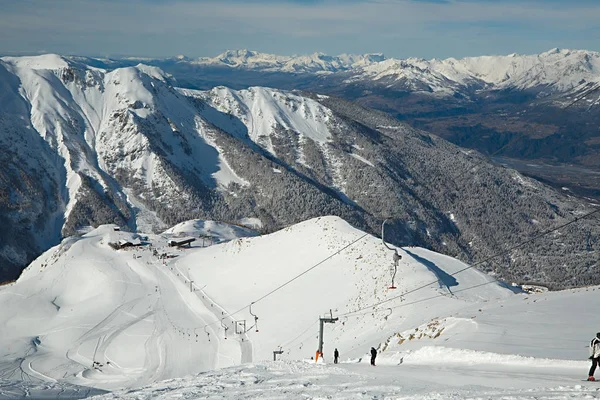
{"type": "Polygon", "coordinates": [[[387,59],[380,53],[279,56],[229,50],[213,58],[198,58],[193,63],[284,73],[348,72],[353,76],[346,79],[346,83],[372,81],[386,87],[442,95],[484,88],[566,92],[582,84],[600,81],[600,53],[567,49],[551,49],[534,55],[444,60],[387,59]]]}

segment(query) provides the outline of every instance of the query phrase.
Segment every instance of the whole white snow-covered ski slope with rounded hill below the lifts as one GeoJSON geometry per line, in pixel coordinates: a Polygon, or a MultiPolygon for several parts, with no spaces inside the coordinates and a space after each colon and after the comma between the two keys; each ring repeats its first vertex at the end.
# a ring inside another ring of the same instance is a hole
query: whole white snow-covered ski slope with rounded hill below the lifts
{"type": "Polygon", "coordinates": [[[337,217],[264,236],[116,229],[65,239],[0,288],[0,398],[600,397],[582,381],[596,287],[527,294],[406,247],[389,289],[393,252],[337,217]],[[338,320],[315,362],[320,317],[338,320]]]}

